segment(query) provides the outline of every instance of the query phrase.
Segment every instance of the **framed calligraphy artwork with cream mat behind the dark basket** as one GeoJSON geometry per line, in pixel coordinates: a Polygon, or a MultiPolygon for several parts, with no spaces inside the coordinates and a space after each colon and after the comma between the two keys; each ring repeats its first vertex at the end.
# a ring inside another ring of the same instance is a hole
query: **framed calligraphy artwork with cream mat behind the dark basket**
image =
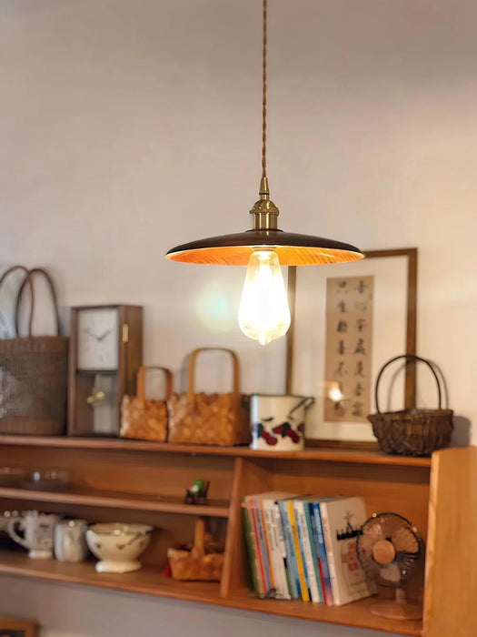
{"type": "MultiPolygon", "coordinates": [[[[379,369],[393,356],[415,354],[417,248],[375,250],[365,257],[289,268],[293,319],[286,387],[315,399],[307,414],[307,440],[373,443],[367,416],[375,410],[379,369]]],[[[380,388],[386,408],[411,407],[415,368],[407,366],[388,383],[380,388]]]]}

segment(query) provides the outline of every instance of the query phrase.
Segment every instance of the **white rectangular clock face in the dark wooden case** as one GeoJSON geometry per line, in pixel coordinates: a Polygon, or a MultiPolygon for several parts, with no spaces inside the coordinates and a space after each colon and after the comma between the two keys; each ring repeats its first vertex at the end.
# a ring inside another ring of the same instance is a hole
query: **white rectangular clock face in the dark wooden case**
{"type": "Polygon", "coordinates": [[[78,312],[78,369],[117,369],[119,314],[117,308],[78,312]]]}

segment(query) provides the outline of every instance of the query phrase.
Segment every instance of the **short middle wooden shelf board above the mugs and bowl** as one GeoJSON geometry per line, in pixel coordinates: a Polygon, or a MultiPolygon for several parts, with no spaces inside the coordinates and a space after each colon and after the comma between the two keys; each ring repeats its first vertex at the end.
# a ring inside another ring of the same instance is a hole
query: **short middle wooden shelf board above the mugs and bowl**
{"type": "Polygon", "coordinates": [[[38,502],[60,502],[62,504],[82,504],[93,507],[127,509],[135,511],[161,511],[183,513],[184,515],[204,515],[227,518],[229,504],[226,501],[209,501],[209,504],[184,504],[165,496],[143,495],[141,493],[120,493],[117,491],[90,490],[81,493],[71,490],[45,491],[38,489],[16,489],[0,487],[0,498],[38,502]]]}

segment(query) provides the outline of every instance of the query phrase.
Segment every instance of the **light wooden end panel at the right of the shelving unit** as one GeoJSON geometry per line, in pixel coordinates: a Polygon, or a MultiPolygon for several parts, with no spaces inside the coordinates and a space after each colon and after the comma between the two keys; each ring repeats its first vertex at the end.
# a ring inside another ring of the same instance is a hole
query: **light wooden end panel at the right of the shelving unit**
{"type": "Polygon", "coordinates": [[[477,448],[432,455],[424,637],[477,635],[477,448]]]}

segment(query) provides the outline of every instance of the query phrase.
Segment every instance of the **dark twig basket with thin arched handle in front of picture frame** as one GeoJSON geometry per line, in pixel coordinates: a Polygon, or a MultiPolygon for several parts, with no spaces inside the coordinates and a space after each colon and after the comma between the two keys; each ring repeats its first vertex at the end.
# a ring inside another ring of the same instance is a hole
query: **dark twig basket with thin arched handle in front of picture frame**
{"type": "Polygon", "coordinates": [[[368,416],[373,424],[373,434],[384,453],[400,456],[430,456],[432,451],[447,447],[451,442],[453,422],[452,410],[441,409],[441,383],[432,365],[427,359],[413,354],[402,354],[388,360],[380,370],[374,388],[376,413],[368,416]],[[419,360],[431,369],[437,383],[438,409],[421,410],[415,407],[402,411],[379,410],[378,389],[384,369],[395,360],[406,359],[406,365],[419,360]]]}

